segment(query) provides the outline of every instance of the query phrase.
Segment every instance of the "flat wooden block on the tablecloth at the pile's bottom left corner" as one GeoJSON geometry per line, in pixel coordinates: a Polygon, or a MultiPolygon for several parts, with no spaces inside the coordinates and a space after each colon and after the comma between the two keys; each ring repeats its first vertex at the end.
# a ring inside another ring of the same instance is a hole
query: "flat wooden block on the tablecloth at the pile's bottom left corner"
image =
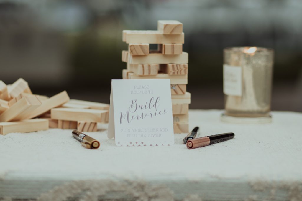
{"type": "Polygon", "coordinates": [[[22,121],[0,122],[1,135],[6,135],[8,133],[27,133],[47,129],[47,119],[27,119],[22,121]]]}

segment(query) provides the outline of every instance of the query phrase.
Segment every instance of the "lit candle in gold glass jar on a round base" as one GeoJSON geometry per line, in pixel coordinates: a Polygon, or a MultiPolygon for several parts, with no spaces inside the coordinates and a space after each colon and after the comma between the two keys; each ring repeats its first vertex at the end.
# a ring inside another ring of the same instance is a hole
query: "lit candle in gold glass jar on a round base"
{"type": "Polygon", "coordinates": [[[270,123],[274,50],[230,47],[223,50],[225,111],[230,123],[270,123]]]}

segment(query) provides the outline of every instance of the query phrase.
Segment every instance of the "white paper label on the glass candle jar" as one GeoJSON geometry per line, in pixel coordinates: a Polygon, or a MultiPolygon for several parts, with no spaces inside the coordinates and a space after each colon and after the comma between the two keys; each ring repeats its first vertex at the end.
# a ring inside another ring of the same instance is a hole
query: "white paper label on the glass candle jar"
{"type": "Polygon", "coordinates": [[[230,96],[242,96],[241,66],[223,64],[223,93],[230,96]]]}

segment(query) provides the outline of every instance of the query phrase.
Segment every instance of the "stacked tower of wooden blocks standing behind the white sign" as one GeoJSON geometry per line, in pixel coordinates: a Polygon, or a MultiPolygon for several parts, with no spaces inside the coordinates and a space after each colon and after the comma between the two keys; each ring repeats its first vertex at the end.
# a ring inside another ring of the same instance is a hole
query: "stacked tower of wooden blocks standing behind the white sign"
{"type": "Polygon", "coordinates": [[[188,109],[191,94],[188,84],[188,53],[182,51],[182,23],[159,20],[155,31],[124,30],[123,41],[128,51],[122,51],[127,62],[123,79],[170,79],[174,133],[188,133],[188,109]],[[149,50],[157,44],[157,50],[149,50]]]}

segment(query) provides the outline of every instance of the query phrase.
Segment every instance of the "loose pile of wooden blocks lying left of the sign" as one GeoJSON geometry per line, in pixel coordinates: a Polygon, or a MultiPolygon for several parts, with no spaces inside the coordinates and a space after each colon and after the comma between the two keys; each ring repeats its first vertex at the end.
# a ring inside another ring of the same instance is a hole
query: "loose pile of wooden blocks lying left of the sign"
{"type": "Polygon", "coordinates": [[[34,95],[20,78],[11,85],[0,80],[0,134],[48,128],[96,131],[108,122],[109,104],[70,100],[66,91],[48,98],[34,95]]]}

